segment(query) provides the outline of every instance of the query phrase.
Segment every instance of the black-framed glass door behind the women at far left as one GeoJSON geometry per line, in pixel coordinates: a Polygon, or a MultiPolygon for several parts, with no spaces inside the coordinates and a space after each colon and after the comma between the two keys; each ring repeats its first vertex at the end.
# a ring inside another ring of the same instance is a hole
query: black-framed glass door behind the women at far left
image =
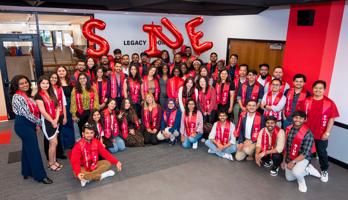
{"type": "Polygon", "coordinates": [[[39,44],[37,34],[0,34],[0,69],[5,97],[0,100],[6,102],[9,120],[15,118],[8,96],[12,78],[18,74],[27,76],[32,82],[33,94],[37,91],[36,81],[43,74],[39,44]]]}

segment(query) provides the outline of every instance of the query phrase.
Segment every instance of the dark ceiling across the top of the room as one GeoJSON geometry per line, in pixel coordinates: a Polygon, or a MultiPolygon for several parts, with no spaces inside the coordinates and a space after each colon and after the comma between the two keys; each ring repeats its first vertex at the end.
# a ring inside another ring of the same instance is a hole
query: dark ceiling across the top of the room
{"type": "Polygon", "coordinates": [[[194,15],[258,14],[270,6],[334,0],[0,0],[0,5],[194,15]]]}

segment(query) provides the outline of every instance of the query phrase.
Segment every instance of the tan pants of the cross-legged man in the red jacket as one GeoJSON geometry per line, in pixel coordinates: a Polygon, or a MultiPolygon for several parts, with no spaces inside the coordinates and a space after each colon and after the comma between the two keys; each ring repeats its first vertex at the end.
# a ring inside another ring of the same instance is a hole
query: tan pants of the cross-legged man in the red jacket
{"type": "MultiPolygon", "coordinates": [[[[81,173],[85,174],[83,179],[85,180],[99,180],[101,173],[105,172],[111,167],[112,163],[106,159],[97,161],[97,168],[92,171],[86,171],[85,166],[81,166],[81,173]]],[[[75,172],[74,172],[74,176],[75,172]]]]}

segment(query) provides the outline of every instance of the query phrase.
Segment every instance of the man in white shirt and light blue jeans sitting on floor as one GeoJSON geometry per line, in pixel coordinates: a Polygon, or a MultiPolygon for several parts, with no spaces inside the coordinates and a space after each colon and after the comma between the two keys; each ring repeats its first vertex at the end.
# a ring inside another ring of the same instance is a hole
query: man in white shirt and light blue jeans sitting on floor
{"type": "Polygon", "coordinates": [[[236,137],[233,135],[235,126],[227,120],[225,109],[220,109],[218,116],[220,120],[214,123],[205,144],[209,147],[209,153],[216,153],[220,157],[233,160],[231,153],[237,151],[236,137]]]}

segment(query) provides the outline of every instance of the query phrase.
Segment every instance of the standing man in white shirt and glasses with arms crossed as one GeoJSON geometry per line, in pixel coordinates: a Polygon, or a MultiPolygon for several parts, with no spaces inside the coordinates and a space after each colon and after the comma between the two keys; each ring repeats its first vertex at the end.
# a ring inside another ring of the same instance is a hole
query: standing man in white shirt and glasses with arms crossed
{"type": "Polygon", "coordinates": [[[272,90],[263,94],[260,107],[264,109],[265,116],[275,116],[277,118],[277,126],[281,127],[282,109],[286,102],[286,97],[280,91],[282,81],[279,78],[274,78],[271,81],[272,90]]]}

